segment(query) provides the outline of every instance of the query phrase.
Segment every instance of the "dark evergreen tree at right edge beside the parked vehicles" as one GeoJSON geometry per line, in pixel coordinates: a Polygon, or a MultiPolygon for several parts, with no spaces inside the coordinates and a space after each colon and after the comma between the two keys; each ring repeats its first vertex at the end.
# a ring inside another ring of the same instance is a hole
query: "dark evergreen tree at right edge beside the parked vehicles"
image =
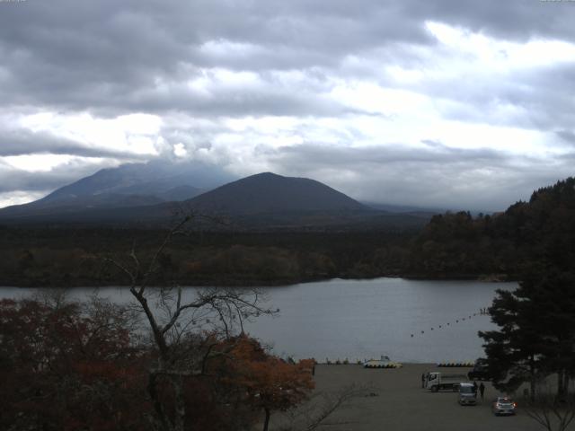
{"type": "Polygon", "coordinates": [[[528,382],[534,398],[537,380],[557,374],[557,395],[564,397],[575,371],[574,285],[573,274],[547,268],[513,292],[498,291],[490,314],[500,329],[479,333],[498,389],[528,382]]]}

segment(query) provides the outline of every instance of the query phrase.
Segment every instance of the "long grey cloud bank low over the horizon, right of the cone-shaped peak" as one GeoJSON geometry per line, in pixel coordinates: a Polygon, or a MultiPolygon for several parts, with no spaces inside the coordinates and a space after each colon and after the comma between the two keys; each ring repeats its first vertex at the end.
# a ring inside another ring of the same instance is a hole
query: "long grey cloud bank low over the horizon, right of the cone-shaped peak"
{"type": "Polygon", "coordinates": [[[419,149],[402,145],[333,148],[284,147],[270,165],[286,175],[323,180],[353,198],[397,205],[499,211],[534,189],[568,176],[571,163],[551,166],[491,149],[456,149],[428,141],[419,149]],[[520,162],[520,163],[518,163],[520,162]]]}

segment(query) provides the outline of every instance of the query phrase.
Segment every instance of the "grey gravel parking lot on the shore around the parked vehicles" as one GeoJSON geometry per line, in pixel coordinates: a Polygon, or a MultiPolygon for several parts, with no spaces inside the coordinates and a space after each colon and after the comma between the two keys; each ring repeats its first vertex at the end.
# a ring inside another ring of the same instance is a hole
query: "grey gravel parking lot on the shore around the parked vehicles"
{"type": "MultiPolygon", "coordinates": [[[[421,374],[441,371],[467,374],[469,368],[438,368],[430,364],[408,364],[399,369],[366,369],[361,365],[317,365],[317,391],[337,391],[350,384],[370,386],[371,396],[353,400],[320,429],[330,431],[444,430],[530,431],[543,430],[518,405],[517,415],[495,417],[491,401],[499,394],[485,383],[485,399],[476,406],[460,406],[453,391],[431,393],[421,389],[421,374]]],[[[273,416],[272,416],[273,429],[273,416]]],[[[574,428],[575,429],[575,428],[574,428]]]]}

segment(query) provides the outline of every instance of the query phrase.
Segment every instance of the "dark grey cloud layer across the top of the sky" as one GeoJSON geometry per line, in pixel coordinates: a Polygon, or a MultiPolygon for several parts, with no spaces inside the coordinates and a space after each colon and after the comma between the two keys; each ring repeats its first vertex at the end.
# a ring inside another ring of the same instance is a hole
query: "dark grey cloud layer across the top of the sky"
{"type": "MultiPolygon", "coordinates": [[[[504,38],[573,39],[571,4],[538,1],[359,2],[51,2],[0,4],[0,82],[4,103],[71,110],[186,110],[200,113],[193,93],[150,89],[180,83],[201,67],[237,70],[337,68],[349,55],[402,42],[432,45],[425,20],[462,25],[504,38]],[[217,55],[209,42],[236,45],[217,55]],[[208,45],[206,45],[208,44],[208,45]],[[240,55],[243,45],[253,52],[240,55]],[[148,94],[148,97],[142,94],[148,94]],[[178,95],[180,98],[178,100],[178,95]],[[173,104],[166,98],[175,98],[173,104]],[[186,102],[188,99],[188,102],[186,102]]],[[[565,2],[566,3],[566,2],[565,2]]],[[[263,77],[265,79],[265,77],[263,77]]],[[[174,90],[177,90],[175,88],[174,90]]],[[[219,94],[217,94],[219,97],[219,94]]],[[[251,89],[233,100],[279,110],[288,93],[268,98],[251,89]]],[[[234,115],[234,103],[208,112],[234,115]]],[[[290,111],[290,110],[288,110],[290,111]]],[[[291,111],[290,111],[291,112],[291,111]]],[[[318,115],[325,115],[319,106],[318,115]]]]}

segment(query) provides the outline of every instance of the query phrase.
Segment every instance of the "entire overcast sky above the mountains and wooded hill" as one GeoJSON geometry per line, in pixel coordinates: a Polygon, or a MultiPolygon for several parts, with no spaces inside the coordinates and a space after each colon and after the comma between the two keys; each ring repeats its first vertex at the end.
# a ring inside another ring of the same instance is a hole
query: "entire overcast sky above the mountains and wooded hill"
{"type": "Polygon", "coordinates": [[[192,158],[498,210],[575,174],[575,0],[0,0],[0,207],[192,158]]]}

